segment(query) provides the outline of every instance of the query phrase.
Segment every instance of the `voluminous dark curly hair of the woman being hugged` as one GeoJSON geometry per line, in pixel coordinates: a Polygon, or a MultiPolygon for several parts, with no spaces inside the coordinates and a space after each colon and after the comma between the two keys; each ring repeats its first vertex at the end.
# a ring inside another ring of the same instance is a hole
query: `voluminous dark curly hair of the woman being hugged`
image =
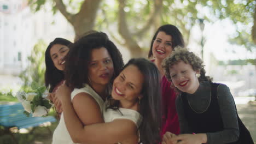
{"type": "Polygon", "coordinates": [[[94,32],[75,41],[66,57],[65,79],[67,86],[71,88],[82,88],[84,83],[89,84],[88,65],[91,61],[91,51],[105,47],[112,58],[114,75],[110,81],[118,75],[124,66],[123,57],[117,46],[109,40],[106,33],[94,32]]]}

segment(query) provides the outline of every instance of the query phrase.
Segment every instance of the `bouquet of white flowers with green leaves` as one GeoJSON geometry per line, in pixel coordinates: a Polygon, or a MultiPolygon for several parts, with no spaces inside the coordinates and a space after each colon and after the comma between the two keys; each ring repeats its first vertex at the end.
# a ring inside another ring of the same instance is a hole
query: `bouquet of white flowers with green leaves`
{"type": "Polygon", "coordinates": [[[48,92],[46,87],[39,87],[31,92],[18,92],[16,97],[24,107],[24,114],[29,116],[32,113],[33,117],[46,116],[50,111],[52,104],[46,99],[48,92]]]}

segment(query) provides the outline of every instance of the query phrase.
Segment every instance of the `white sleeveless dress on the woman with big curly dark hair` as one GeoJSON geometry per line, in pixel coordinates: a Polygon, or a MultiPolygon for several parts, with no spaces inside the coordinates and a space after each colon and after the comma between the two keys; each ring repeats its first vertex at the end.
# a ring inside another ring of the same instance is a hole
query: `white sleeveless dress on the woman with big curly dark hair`
{"type": "MultiPolygon", "coordinates": [[[[87,84],[85,84],[85,87],[83,87],[83,88],[80,88],[80,89],[75,88],[74,91],[71,93],[71,100],[73,100],[75,95],[77,95],[78,93],[82,93],[82,92],[90,94],[97,101],[98,105],[100,106],[101,113],[102,113],[104,101],[102,100],[100,95],[98,95],[94,91],[94,89],[92,89],[87,84]]],[[[74,143],[71,139],[71,136],[69,135],[69,133],[67,131],[63,115],[61,115],[60,123],[57,125],[57,128],[54,130],[52,144],[60,144],[60,143],[68,143],[68,144],[74,143]]]]}

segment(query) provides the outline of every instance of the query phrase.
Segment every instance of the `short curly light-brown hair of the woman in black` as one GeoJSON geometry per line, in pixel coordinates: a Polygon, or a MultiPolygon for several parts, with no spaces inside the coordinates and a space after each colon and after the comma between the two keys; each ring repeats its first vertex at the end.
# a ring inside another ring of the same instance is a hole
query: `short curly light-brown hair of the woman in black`
{"type": "MultiPolygon", "coordinates": [[[[178,64],[181,61],[183,61],[186,64],[190,64],[194,71],[200,71],[200,77],[198,78],[199,82],[212,82],[212,78],[210,76],[205,75],[205,65],[203,65],[202,59],[196,56],[195,53],[189,52],[188,49],[181,47],[179,47],[179,49],[174,49],[171,55],[166,57],[162,62],[162,68],[164,68],[165,70],[165,76],[168,81],[172,82],[169,68],[172,65],[178,64]]],[[[174,87],[173,83],[172,87],[174,87]]],[[[181,92],[177,88],[175,88],[175,90],[178,93],[181,92]]]]}

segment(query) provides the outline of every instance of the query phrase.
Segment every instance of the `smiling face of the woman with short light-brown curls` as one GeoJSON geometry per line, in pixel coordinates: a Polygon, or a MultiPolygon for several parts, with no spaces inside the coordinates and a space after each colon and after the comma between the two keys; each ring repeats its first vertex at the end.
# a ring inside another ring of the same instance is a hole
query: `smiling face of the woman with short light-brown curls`
{"type": "Polygon", "coordinates": [[[193,70],[190,64],[180,61],[172,65],[169,70],[172,83],[180,91],[193,94],[199,87],[196,74],[200,74],[200,72],[193,70]]]}

